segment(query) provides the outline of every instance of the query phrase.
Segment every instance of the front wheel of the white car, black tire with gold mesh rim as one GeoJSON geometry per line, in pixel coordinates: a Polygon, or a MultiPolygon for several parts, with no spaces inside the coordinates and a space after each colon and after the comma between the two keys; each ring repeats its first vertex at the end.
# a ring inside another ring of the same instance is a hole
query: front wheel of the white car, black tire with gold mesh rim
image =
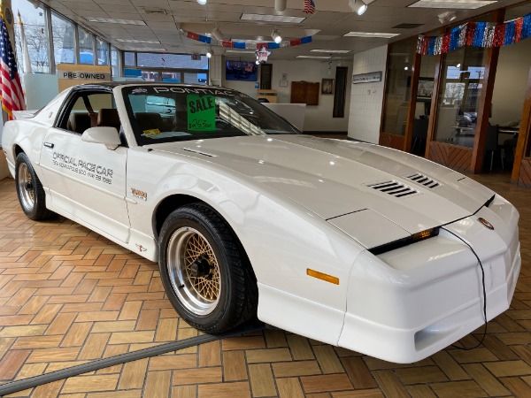
{"type": "Polygon", "coordinates": [[[159,269],[181,317],[206,333],[222,333],[256,314],[256,278],[241,244],[210,207],[174,210],[162,226],[159,269]]]}

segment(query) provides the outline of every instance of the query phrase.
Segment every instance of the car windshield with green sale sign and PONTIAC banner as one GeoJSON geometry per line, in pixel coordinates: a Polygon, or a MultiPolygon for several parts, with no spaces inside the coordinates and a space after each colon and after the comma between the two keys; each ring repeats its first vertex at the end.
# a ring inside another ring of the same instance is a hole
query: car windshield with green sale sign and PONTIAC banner
{"type": "Polygon", "coordinates": [[[300,134],[250,96],[226,88],[127,86],[122,94],[139,145],[237,135],[300,134]]]}

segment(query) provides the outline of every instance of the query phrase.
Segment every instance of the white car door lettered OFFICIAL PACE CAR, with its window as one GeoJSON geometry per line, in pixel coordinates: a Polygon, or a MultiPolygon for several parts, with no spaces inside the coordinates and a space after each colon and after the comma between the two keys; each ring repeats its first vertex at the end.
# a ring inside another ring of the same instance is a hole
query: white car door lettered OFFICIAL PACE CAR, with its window
{"type": "Polygon", "coordinates": [[[112,91],[81,89],[65,101],[44,139],[41,167],[49,188],[52,210],[127,242],[127,146],[107,149],[84,142],[91,126],[119,128],[112,91]]]}

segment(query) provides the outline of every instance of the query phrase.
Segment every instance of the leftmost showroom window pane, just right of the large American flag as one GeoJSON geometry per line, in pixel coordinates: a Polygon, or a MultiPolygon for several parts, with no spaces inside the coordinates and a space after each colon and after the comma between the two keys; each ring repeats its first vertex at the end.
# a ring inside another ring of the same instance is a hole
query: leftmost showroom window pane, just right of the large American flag
{"type": "MultiPolygon", "coordinates": [[[[27,51],[32,72],[50,73],[50,57],[48,48],[48,30],[46,19],[42,7],[35,7],[27,0],[13,0],[12,10],[19,10],[22,23],[24,24],[24,34],[26,36],[27,51]]],[[[15,17],[17,18],[17,17],[15,17]]],[[[18,24],[15,26],[15,51],[19,71],[25,71],[23,50],[21,46],[21,31],[18,24]]]]}

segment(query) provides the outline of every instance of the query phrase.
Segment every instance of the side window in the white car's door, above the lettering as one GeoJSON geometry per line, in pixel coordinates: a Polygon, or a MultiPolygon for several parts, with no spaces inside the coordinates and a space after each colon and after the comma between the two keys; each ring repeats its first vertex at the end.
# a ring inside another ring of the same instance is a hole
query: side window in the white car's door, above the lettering
{"type": "Polygon", "coordinates": [[[83,134],[88,128],[96,126],[120,129],[119,115],[112,93],[78,93],[58,127],[83,134]]]}

